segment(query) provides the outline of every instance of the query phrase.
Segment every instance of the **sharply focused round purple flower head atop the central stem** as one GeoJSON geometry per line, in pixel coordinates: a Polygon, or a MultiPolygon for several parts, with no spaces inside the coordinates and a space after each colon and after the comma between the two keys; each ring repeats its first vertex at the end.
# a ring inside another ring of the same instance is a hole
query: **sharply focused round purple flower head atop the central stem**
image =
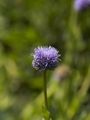
{"type": "Polygon", "coordinates": [[[32,56],[34,58],[33,67],[40,71],[54,70],[60,60],[58,51],[51,46],[35,48],[32,56]]]}

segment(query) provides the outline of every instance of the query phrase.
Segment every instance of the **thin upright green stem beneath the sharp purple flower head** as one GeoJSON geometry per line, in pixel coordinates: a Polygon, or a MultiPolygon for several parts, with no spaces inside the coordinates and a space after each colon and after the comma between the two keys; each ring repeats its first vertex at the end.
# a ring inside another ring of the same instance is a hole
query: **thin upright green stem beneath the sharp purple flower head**
{"type": "Polygon", "coordinates": [[[48,110],[48,103],[47,103],[47,87],[46,87],[46,71],[43,72],[43,87],[44,87],[44,102],[45,102],[45,108],[48,110]]]}

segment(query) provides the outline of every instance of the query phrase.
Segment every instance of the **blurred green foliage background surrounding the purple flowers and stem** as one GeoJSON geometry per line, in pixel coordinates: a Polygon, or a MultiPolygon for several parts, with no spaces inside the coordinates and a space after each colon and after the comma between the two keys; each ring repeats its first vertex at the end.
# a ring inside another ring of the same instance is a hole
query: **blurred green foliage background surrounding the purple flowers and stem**
{"type": "Polygon", "coordinates": [[[0,120],[41,120],[42,72],[32,67],[37,46],[61,54],[47,73],[53,120],[90,120],[90,10],[73,0],[0,0],[0,120]]]}

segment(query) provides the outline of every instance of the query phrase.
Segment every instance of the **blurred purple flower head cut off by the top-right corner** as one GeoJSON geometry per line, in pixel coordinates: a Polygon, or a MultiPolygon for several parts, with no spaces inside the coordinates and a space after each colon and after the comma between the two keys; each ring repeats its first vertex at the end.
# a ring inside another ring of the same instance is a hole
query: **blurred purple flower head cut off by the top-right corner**
{"type": "Polygon", "coordinates": [[[82,11],[84,9],[87,9],[90,6],[90,0],[75,0],[74,2],[74,8],[77,11],[82,11]]]}

